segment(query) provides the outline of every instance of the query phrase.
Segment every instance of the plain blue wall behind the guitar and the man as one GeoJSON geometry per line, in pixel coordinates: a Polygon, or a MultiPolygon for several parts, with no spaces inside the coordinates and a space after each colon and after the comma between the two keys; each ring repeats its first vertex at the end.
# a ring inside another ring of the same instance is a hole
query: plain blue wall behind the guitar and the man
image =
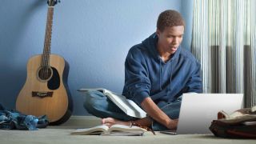
{"type": "MultiPolygon", "coordinates": [[[[122,92],[123,65],[130,47],[156,30],[163,10],[186,14],[192,5],[187,6],[190,0],[184,1],[62,0],[55,6],[51,52],[70,63],[68,84],[74,115],[87,114],[82,95],[76,91],[81,87],[122,92]]],[[[26,81],[27,60],[42,54],[46,12],[46,0],[1,0],[0,103],[7,109],[14,109],[26,81]]],[[[185,18],[190,21],[187,14],[185,18]]],[[[191,23],[186,25],[190,28],[191,23]]],[[[190,31],[184,41],[190,39],[190,31]]],[[[182,45],[190,46],[190,42],[182,45]]]]}

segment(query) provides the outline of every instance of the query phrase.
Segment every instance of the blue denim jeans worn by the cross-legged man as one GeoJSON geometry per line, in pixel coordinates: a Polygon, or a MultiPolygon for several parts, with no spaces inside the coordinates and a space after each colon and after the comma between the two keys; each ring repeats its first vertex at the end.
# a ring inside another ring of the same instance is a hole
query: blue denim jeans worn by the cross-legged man
{"type": "MultiPolygon", "coordinates": [[[[116,118],[122,121],[134,121],[138,118],[130,117],[125,114],[118,106],[114,104],[109,98],[107,98],[100,91],[86,91],[83,93],[85,96],[84,107],[88,113],[93,114],[98,118],[116,118]]],[[[174,102],[158,102],[158,107],[166,113],[170,118],[176,119],[179,115],[182,97],[178,98],[174,102]]],[[[166,126],[156,122],[153,118],[152,126],[153,130],[167,130],[166,126]]]]}

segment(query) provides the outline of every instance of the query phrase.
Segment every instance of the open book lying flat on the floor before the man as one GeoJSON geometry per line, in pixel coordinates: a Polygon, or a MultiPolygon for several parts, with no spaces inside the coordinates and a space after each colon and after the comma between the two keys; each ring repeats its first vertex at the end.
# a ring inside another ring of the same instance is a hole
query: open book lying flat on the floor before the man
{"type": "Polygon", "coordinates": [[[88,129],[77,129],[74,130],[71,134],[77,135],[143,135],[146,132],[145,129],[142,129],[138,126],[124,126],[115,124],[110,128],[106,125],[94,126],[88,129]]]}

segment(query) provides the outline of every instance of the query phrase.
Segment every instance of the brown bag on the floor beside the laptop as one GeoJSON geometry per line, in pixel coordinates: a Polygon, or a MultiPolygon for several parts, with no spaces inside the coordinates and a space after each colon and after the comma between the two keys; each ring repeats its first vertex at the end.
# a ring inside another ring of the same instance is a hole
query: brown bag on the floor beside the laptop
{"type": "Polygon", "coordinates": [[[256,138],[256,106],[230,115],[220,111],[218,120],[211,122],[210,130],[222,138],[256,138]]]}

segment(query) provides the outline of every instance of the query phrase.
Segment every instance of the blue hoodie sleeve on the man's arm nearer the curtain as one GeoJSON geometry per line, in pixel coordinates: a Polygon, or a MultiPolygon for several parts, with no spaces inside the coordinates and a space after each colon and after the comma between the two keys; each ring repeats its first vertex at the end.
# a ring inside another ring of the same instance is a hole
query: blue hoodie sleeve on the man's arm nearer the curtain
{"type": "Polygon", "coordinates": [[[202,93],[202,78],[200,74],[201,66],[199,62],[195,62],[194,70],[188,82],[186,82],[187,92],[202,93]]]}

